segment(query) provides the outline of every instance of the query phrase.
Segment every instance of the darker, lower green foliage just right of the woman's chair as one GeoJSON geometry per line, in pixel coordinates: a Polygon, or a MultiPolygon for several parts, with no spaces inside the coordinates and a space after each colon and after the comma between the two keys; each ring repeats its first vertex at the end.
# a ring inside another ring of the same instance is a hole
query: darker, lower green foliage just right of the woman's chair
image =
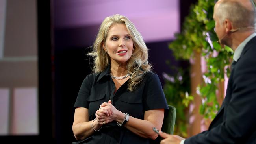
{"type": "MultiPolygon", "coordinates": [[[[167,62],[169,63],[169,62],[167,62]]],[[[189,95],[190,82],[188,68],[182,69],[175,66],[170,66],[176,73],[169,75],[163,73],[165,85],[163,90],[167,99],[168,105],[176,107],[176,124],[174,133],[182,137],[187,137],[187,117],[189,103],[193,100],[193,96],[189,95]]]]}

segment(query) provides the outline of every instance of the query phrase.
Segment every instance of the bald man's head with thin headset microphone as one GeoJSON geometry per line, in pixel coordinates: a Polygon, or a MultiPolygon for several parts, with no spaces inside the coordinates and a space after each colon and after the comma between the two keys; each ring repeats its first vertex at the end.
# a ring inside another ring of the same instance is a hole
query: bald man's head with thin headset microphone
{"type": "Polygon", "coordinates": [[[219,0],[214,6],[213,19],[219,42],[227,46],[236,31],[252,31],[256,22],[256,10],[250,0],[219,0]]]}

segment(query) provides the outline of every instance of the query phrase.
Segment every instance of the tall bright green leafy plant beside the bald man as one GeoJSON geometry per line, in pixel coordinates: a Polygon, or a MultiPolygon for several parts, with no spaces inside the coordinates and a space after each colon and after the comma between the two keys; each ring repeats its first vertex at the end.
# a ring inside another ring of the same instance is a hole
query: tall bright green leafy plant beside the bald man
{"type": "MultiPolygon", "coordinates": [[[[190,7],[189,15],[185,18],[182,24],[182,31],[176,33],[176,39],[169,44],[169,48],[173,51],[173,55],[177,60],[193,59],[195,52],[199,52],[206,61],[206,72],[202,75],[204,81],[197,87],[197,94],[202,98],[200,105],[200,114],[206,119],[213,119],[219,109],[216,91],[219,88],[219,83],[224,81],[224,74],[230,74],[228,67],[232,61],[233,50],[227,46],[221,46],[217,40],[215,33],[215,21],[213,20],[213,8],[216,0],[198,0],[197,4],[190,7]]],[[[189,83],[189,82],[186,82],[189,83]]],[[[174,87],[184,93],[175,83],[167,83],[165,94],[174,87]],[[169,87],[169,88],[168,88],[169,87]],[[171,87],[171,88],[170,88],[171,87]]],[[[187,91],[189,92],[189,91],[187,91]]],[[[190,95],[190,94],[187,94],[190,95]]],[[[179,102],[187,101],[186,97],[180,95],[179,102]]],[[[190,97],[190,96],[189,96],[190,97]]],[[[221,98],[224,96],[221,94],[221,98]]],[[[176,98],[176,95],[173,95],[176,98]]],[[[167,98],[173,100],[172,98],[167,98]]],[[[188,103],[192,100],[189,98],[188,103]]],[[[185,106],[185,103],[182,103],[185,106]]],[[[177,109],[183,110],[184,107],[179,105],[177,109]]],[[[184,118],[180,117],[181,120],[184,118]]],[[[176,121],[180,119],[177,118],[176,121]]]]}

